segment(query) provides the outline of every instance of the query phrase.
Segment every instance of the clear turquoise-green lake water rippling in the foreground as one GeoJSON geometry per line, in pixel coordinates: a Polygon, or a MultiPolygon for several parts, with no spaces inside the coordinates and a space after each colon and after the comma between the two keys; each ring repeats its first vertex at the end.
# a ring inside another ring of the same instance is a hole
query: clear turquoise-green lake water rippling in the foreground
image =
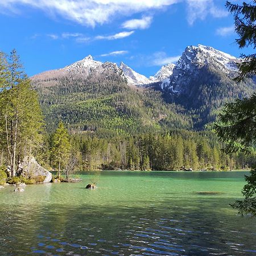
{"type": "Polygon", "coordinates": [[[256,255],[256,220],[229,207],[245,172],[101,172],[0,190],[0,255],[256,255]],[[214,193],[205,193],[211,191],[214,193]]]}

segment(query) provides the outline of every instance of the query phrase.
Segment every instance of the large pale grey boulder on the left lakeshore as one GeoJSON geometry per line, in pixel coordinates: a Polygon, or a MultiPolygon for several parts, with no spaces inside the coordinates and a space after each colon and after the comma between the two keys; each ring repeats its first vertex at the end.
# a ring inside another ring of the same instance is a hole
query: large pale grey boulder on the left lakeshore
{"type": "Polygon", "coordinates": [[[36,162],[34,157],[24,159],[22,166],[22,175],[36,179],[36,177],[44,178],[42,183],[48,183],[52,180],[52,174],[48,170],[44,169],[38,162],[36,162]]]}

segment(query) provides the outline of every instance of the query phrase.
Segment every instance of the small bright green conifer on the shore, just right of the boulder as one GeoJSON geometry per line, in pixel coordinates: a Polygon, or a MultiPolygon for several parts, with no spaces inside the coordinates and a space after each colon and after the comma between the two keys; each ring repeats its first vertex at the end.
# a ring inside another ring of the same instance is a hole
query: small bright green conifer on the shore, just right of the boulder
{"type": "Polygon", "coordinates": [[[65,168],[69,160],[71,144],[69,142],[68,130],[65,129],[63,122],[59,123],[52,139],[51,162],[57,168],[57,177],[65,168]]]}

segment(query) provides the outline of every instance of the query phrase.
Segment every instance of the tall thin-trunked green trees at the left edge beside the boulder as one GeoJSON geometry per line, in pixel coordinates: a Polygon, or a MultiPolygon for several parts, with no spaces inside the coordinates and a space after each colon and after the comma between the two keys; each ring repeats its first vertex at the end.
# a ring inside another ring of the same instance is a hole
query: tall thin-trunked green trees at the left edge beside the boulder
{"type": "Polygon", "coordinates": [[[16,51],[11,52],[9,61],[2,54],[0,63],[0,69],[4,70],[0,71],[0,80],[5,81],[0,93],[0,137],[7,152],[11,176],[15,176],[18,163],[31,154],[36,143],[40,143],[43,117],[37,94],[31,89],[16,51]],[[27,144],[30,144],[29,148],[27,144]]]}

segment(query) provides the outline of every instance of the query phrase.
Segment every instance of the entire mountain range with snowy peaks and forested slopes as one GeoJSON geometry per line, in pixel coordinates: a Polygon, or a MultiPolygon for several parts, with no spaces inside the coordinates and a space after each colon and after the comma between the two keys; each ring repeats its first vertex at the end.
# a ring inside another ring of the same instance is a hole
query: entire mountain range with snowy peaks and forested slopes
{"type": "Polygon", "coordinates": [[[89,55],[31,80],[49,130],[59,119],[74,133],[202,130],[226,102],[254,92],[254,78],[233,80],[241,61],[199,44],[149,78],[123,62],[118,67],[89,55]]]}

